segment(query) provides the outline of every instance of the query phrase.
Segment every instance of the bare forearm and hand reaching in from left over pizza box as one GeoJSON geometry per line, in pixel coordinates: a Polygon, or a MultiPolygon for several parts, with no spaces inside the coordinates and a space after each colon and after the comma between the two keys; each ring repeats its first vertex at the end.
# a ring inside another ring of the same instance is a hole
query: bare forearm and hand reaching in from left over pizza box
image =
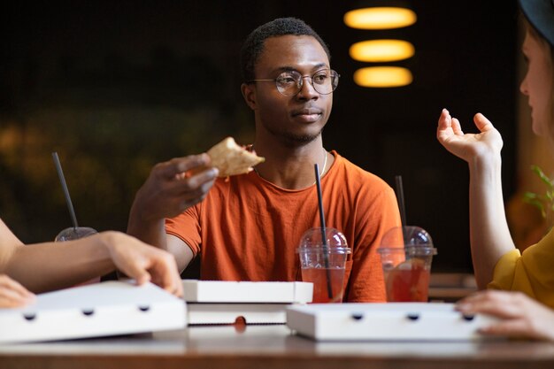
{"type": "Polygon", "coordinates": [[[138,284],[152,281],[182,294],[173,256],[127,234],[103,232],[75,241],[24,245],[0,219],[0,273],[34,292],[71,287],[115,268],[138,284]]]}

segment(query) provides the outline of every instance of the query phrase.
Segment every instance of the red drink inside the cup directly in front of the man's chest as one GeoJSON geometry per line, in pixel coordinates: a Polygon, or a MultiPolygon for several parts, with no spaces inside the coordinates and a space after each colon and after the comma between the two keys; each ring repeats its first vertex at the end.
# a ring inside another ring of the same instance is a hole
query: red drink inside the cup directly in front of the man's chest
{"type": "Polygon", "coordinates": [[[302,281],[313,283],[314,304],[341,303],[344,288],[344,268],[302,268],[302,281]],[[327,275],[331,279],[333,296],[329,298],[327,275]]]}

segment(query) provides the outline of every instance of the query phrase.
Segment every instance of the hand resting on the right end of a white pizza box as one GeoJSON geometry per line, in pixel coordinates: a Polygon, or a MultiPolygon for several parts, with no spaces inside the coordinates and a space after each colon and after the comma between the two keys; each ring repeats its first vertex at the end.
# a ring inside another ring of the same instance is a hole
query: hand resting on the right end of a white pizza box
{"type": "Polygon", "coordinates": [[[482,334],[554,341],[554,311],[521,292],[488,290],[460,300],[458,311],[501,319],[480,329],[482,334]]]}

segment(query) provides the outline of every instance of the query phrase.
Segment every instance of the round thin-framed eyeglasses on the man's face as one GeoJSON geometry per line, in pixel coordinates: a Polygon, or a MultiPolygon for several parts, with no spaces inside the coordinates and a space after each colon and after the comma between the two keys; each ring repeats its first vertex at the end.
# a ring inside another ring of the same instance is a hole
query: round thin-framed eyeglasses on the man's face
{"type": "Polygon", "coordinates": [[[297,71],[287,71],[279,74],[275,79],[250,80],[246,83],[274,81],[281,95],[296,96],[304,86],[304,78],[309,78],[313,89],[320,95],[329,95],[338,86],[340,76],[333,69],[321,69],[312,76],[302,75],[297,71]]]}

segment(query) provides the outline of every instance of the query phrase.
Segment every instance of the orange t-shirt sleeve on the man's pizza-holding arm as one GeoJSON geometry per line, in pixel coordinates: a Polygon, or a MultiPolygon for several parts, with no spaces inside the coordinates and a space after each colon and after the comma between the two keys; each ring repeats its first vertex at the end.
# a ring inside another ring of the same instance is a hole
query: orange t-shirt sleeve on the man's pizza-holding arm
{"type": "Polygon", "coordinates": [[[196,257],[202,244],[199,205],[190,207],[174,218],[165,219],[165,233],[180,238],[189,245],[196,257]]]}

